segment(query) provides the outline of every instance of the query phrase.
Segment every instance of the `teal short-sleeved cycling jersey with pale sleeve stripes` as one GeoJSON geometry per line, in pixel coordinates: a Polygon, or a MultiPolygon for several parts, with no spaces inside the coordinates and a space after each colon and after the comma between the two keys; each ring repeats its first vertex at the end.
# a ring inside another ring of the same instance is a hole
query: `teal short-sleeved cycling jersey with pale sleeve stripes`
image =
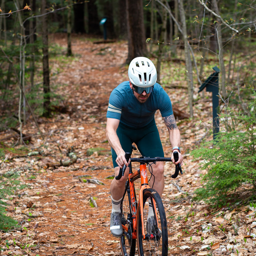
{"type": "Polygon", "coordinates": [[[139,128],[153,121],[157,110],[160,110],[162,117],[173,114],[170,97],[161,85],[156,83],[148,100],[140,103],[133,95],[129,81],[125,81],[111,92],[107,118],[119,119],[128,127],[139,128]]]}

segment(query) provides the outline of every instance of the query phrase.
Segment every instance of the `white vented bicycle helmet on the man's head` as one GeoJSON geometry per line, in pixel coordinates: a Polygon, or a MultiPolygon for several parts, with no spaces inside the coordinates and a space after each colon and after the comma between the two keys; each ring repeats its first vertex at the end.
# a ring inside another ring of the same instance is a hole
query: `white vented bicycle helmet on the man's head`
{"type": "Polygon", "coordinates": [[[138,87],[153,86],[157,79],[155,65],[146,57],[137,57],[131,61],[128,76],[130,82],[138,87]]]}

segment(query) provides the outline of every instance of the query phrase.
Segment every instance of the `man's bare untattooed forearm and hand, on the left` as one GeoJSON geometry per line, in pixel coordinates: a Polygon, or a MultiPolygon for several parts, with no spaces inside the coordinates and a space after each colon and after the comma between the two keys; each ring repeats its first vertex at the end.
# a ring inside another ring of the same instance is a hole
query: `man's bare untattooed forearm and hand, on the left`
{"type": "Polygon", "coordinates": [[[116,162],[120,168],[122,168],[125,165],[128,166],[128,162],[126,161],[124,155],[125,152],[122,149],[122,146],[120,144],[120,140],[117,136],[117,128],[119,125],[119,119],[115,118],[107,118],[107,126],[106,126],[106,136],[108,139],[109,144],[113,148],[113,150],[117,154],[116,162]]]}

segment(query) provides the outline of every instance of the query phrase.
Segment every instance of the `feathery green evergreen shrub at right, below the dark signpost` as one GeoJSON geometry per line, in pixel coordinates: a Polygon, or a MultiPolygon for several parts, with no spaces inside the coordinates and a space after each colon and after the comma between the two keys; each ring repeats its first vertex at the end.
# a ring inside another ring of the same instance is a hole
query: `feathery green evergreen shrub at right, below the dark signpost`
{"type": "MultiPolygon", "coordinates": [[[[204,200],[213,207],[241,201],[239,195],[256,194],[256,99],[248,105],[248,113],[229,110],[229,130],[220,132],[215,141],[204,142],[191,152],[194,159],[202,160],[207,170],[202,187],[194,199],[204,200]]],[[[221,116],[222,117],[222,116],[221,116]]],[[[227,126],[226,126],[227,127],[227,126]]],[[[247,197],[248,200],[248,197],[247,197]]]]}

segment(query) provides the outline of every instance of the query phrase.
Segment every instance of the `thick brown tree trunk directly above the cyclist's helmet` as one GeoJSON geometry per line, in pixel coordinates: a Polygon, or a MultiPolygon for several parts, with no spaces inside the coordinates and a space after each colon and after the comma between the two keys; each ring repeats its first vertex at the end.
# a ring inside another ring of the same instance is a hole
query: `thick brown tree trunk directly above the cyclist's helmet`
{"type": "Polygon", "coordinates": [[[126,0],[128,25],[128,57],[126,63],[139,56],[147,56],[143,18],[143,1],[126,0]]]}

